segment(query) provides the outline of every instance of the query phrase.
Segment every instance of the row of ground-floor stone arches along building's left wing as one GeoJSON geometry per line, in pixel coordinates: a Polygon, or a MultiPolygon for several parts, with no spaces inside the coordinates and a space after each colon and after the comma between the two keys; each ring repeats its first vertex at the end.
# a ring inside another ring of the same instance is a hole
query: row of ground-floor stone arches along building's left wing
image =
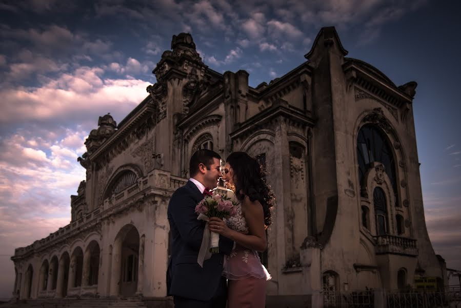
{"type": "MultiPolygon", "coordinates": [[[[59,251],[42,255],[41,259],[35,257],[16,263],[14,294],[19,294],[21,299],[96,295],[103,278],[101,236],[93,233],[87,239],[64,245],[59,251]]],[[[110,285],[111,296],[133,296],[141,290],[138,285],[140,240],[144,240],[144,236],[140,238],[136,227],[127,224],[109,245],[110,273],[105,280],[110,285]]]]}

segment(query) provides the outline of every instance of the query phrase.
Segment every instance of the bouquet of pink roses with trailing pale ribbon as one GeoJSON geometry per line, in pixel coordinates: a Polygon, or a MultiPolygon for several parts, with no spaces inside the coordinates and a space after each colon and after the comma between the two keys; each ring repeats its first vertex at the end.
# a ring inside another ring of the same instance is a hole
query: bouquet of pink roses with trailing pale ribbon
{"type": "MultiPolygon", "coordinates": [[[[237,203],[231,201],[231,199],[227,196],[221,195],[214,195],[207,197],[200,201],[197,206],[195,206],[195,213],[198,214],[198,220],[205,220],[208,221],[210,217],[217,217],[217,218],[229,218],[230,216],[234,216],[237,214],[237,203]]],[[[209,233],[207,231],[208,222],[205,227],[204,231],[204,239],[202,242],[202,246],[207,245],[206,238],[209,233]]],[[[209,252],[212,254],[219,253],[219,234],[215,232],[211,232],[211,241],[209,245],[209,252]]],[[[202,251],[202,247],[201,247],[202,251]]],[[[205,258],[206,259],[206,258],[205,258]]]]}

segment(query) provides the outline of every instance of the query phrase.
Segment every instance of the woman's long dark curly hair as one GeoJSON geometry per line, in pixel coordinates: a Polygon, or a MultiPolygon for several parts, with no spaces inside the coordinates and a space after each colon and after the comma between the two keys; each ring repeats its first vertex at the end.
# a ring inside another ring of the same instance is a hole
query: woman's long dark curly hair
{"type": "Polygon", "coordinates": [[[275,198],[269,185],[266,183],[266,172],[258,161],[246,152],[233,152],[226,162],[234,172],[235,196],[243,201],[247,195],[252,202],[259,201],[263,206],[264,224],[268,227],[271,223],[271,208],[275,198]]]}

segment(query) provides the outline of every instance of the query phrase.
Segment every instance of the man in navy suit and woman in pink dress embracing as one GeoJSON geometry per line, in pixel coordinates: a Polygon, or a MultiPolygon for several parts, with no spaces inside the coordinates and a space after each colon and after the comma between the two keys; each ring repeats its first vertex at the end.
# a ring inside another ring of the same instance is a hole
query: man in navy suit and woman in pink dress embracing
{"type": "Polygon", "coordinates": [[[245,152],[229,155],[221,172],[218,153],[201,149],[190,159],[187,184],[178,188],[168,205],[172,253],[167,290],[175,308],[265,307],[270,279],[257,252],[267,249],[265,229],[271,224],[274,197],[256,159],[245,152]],[[235,215],[211,217],[208,227],[219,234],[219,253],[197,262],[206,222],[197,220],[195,207],[217,186],[219,178],[232,189],[238,204],[235,215]]]}

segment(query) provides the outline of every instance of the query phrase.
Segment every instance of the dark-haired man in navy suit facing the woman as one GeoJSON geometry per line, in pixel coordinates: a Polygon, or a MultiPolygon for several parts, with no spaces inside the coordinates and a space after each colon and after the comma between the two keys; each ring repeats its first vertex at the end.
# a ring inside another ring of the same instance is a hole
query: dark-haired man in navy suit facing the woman
{"type": "Polygon", "coordinates": [[[219,254],[197,263],[206,222],[197,220],[195,206],[204,194],[217,186],[221,173],[218,153],[201,149],[189,164],[191,178],[176,189],[168,205],[168,221],[172,235],[172,252],[167,271],[167,293],[173,296],[175,308],[225,308],[227,301],[226,278],[221,274],[224,255],[229,255],[234,242],[221,236],[219,254]]]}

